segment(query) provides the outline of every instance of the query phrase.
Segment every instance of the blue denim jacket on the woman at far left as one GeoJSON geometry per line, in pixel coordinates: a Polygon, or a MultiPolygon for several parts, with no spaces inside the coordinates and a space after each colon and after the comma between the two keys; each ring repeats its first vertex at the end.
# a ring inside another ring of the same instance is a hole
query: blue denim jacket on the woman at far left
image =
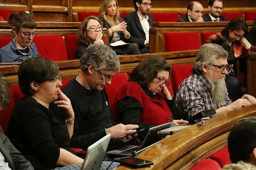
{"type": "Polygon", "coordinates": [[[9,44],[0,49],[0,56],[0,62],[22,62],[28,57],[40,57],[40,54],[34,42],[28,46],[28,54],[21,53],[12,38],[9,44]]]}

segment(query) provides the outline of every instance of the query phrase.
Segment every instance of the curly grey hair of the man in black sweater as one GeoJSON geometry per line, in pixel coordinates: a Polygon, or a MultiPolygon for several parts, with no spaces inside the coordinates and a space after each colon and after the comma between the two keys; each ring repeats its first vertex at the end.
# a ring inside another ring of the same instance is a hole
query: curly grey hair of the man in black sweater
{"type": "Polygon", "coordinates": [[[80,69],[83,72],[88,70],[92,65],[95,71],[103,69],[120,71],[120,61],[116,52],[107,45],[92,44],[85,51],[83,56],[79,59],[80,69]]]}

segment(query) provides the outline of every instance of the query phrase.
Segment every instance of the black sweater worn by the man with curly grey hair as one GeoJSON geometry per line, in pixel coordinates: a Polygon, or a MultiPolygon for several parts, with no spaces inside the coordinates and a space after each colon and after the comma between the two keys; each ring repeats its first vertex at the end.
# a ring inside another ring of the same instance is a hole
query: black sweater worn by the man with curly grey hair
{"type": "MultiPolygon", "coordinates": [[[[74,133],[71,147],[87,149],[88,146],[106,135],[105,128],[112,127],[112,112],[105,89],[91,90],[82,86],[76,79],[63,89],[70,99],[74,113],[74,133]]],[[[119,139],[111,139],[108,150],[124,146],[119,139]]]]}

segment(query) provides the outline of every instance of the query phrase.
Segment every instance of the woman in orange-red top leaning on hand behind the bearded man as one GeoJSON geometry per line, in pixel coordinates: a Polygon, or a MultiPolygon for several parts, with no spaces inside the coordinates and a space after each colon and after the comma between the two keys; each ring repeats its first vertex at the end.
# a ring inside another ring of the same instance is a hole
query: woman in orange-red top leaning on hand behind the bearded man
{"type": "MultiPolygon", "coordinates": [[[[216,35],[220,35],[221,38],[226,40],[234,50],[235,57],[247,54],[251,51],[251,44],[245,38],[248,34],[248,27],[242,18],[235,18],[229,22],[225,28],[216,34],[209,36],[209,39],[216,38],[216,35]]],[[[246,88],[247,84],[247,59],[237,59],[236,66],[234,67],[237,74],[238,80],[242,86],[246,88]]]]}

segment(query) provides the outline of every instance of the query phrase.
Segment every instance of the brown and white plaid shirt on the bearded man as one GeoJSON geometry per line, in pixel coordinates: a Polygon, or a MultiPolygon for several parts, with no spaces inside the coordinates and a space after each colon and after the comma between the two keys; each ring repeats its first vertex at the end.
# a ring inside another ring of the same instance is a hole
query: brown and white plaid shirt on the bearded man
{"type": "Polygon", "coordinates": [[[201,110],[218,109],[231,103],[227,92],[227,100],[214,104],[209,81],[196,74],[182,81],[175,101],[182,118],[186,120],[201,110]]]}

